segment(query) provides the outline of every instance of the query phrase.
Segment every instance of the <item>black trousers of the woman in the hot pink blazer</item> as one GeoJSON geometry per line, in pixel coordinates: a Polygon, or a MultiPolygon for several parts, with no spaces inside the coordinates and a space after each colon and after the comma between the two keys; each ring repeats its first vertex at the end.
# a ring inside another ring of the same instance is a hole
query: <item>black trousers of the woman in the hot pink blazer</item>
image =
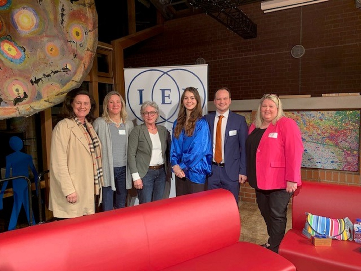
{"type": "Polygon", "coordinates": [[[270,250],[276,253],[286,231],[287,205],[292,194],[286,189],[256,189],[258,208],[267,225],[268,244],[271,245],[270,250]]]}

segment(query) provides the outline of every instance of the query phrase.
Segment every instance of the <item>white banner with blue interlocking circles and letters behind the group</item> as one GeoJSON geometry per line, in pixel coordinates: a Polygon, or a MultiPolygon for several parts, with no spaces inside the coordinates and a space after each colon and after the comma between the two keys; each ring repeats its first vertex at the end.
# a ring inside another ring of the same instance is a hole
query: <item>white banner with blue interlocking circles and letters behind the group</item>
{"type": "MultiPolygon", "coordinates": [[[[173,122],[178,117],[179,103],[184,89],[195,87],[201,96],[203,114],[207,113],[208,65],[169,66],[124,69],[125,100],[129,120],[135,125],[143,123],[140,107],[146,100],[159,107],[157,124],[164,125],[172,134],[173,122]]],[[[175,197],[174,176],[169,197],[175,197]]]]}

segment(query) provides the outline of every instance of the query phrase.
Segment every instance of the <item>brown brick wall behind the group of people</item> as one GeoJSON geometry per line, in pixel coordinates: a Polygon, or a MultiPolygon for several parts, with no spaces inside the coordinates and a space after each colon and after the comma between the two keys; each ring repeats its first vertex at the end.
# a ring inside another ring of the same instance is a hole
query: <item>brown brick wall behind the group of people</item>
{"type": "MultiPolygon", "coordinates": [[[[208,64],[209,100],[228,86],[232,99],[279,95],[361,92],[361,9],[352,0],[264,14],[260,3],[240,7],[257,24],[257,38],[244,40],[205,14],[164,23],[164,33],[125,51],[125,67],[208,64]],[[291,56],[296,44],[305,48],[291,56]]],[[[239,108],[238,110],[242,110],[239,108]]],[[[303,179],[360,186],[360,172],[302,169],[303,179]]],[[[242,185],[242,201],[255,202],[242,185]]]]}

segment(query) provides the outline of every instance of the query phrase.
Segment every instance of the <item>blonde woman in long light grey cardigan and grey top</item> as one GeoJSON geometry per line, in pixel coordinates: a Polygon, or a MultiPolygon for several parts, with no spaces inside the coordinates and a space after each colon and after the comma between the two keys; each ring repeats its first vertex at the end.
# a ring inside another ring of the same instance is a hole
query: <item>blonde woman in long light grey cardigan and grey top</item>
{"type": "Polygon", "coordinates": [[[127,149],[133,122],[127,121],[127,116],[122,96],[111,91],[104,98],[103,115],[93,122],[102,145],[103,211],[125,207],[127,189],[132,188],[127,149]]]}

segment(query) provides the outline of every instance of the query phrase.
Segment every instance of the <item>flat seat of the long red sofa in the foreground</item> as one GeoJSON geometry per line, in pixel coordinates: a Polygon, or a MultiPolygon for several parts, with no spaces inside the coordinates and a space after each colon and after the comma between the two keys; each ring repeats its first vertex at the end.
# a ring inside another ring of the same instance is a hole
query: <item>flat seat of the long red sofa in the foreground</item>
{"type": "Polygon", "coordinates": [[[293,271],[296,267],[280,255],[259,245],[239,242],[226,248],[179,263],[162,271],[293,271]]]}

